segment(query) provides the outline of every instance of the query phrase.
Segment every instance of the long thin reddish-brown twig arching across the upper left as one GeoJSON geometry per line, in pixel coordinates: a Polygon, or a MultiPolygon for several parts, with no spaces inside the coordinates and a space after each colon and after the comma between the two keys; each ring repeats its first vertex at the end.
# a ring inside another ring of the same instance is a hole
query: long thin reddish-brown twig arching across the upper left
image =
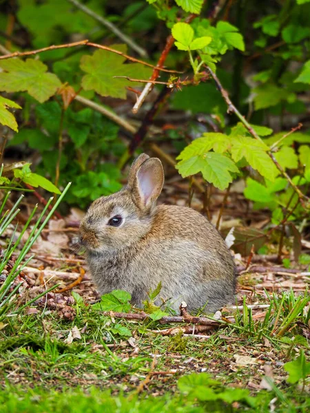
{"type": "MultiPolygon", "coordinates": [[[[129,56],[128,54],[120,52],[119,50],[112,49],[111,47],[99,45],[98,43],[92,43],[88,40],[75,41],[74,43],[66,43],[64,45],[51,45],[48,47],[42,47],[41,49],[37,49],[37,50],[30,50],[29,52],[7,53],[4,56],[0,56],[0,60],[10,59],[12,57],[33,56],[34,54],[47,52],[48,50],[66,49],[66,48],[68,49],[69,47],[76,47],[76,46],[90,46],[90,47],[96,47],[97,49],[107,50],[108,52],[112,52],[112,53],[118,54],[119,56],[123,56],[125,57],[125,59],[130,60],[132,62],[140,63],[141,65],[145,65],[147,67],[152,67],[152,69],[156,68],[156,66],[151,65],[150,63],[146,63],[144,61],[136,59],[135,57],[132,57],[132,56],[129,56]]],[[[163,67],[158,68],[158,70],[161,70],[167,73],[181,73],[181,72],[177,72],[176,70],[164,69],[163,67]]]]}

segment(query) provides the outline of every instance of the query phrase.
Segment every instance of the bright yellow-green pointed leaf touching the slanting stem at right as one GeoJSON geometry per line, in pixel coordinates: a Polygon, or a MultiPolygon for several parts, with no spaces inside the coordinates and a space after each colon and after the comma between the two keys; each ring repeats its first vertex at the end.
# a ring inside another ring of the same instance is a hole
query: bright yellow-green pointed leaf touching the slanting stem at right
{"type": "Polygon", "coordinates": [[[279,171],[266,151],[269,149],[264,142],[247,136],[231,136],[231,158],[235,162],[245,158],[252,168],[260,175],[273,181],[279,171]]]}

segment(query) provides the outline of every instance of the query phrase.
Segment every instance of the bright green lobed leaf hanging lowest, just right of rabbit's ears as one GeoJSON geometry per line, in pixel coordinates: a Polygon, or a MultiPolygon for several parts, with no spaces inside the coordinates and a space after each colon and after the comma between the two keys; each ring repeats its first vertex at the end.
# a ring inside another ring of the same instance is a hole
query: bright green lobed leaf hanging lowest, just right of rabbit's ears
{"type": "Polygon", "coordinates": [[[207,182],[222,190],[226,189],[229,183],[232,182],[230,172],[239,171],[234,162],[227,156],[215,152],[182,160],[176,165],[176,169],[183,178],[201,172],[207,182]]]}

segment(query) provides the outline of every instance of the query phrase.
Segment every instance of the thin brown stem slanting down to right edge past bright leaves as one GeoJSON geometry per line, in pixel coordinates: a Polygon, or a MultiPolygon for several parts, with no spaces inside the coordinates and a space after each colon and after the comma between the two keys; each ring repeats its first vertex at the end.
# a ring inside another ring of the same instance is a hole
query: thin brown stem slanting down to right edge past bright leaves
{"type": "MultiPolygon", "coordinates": [[[[260,136],[258,136],[258,134],[256,134],[256,131],[254,131],[253,127],[251,127],[251,125],[249,124],[249,122],[245,119],[244,116],[242,116],[242,114],[240,114],[240,112],[238,111],[238,109],[236,108],[236,106],[231,102],[227,91],[223,88],[222,84],[220,83],[220,81],[218,80],[218,76],[216,76],[216,74],[207,66],[207,70],[209,70],[209,73],[211,74],[212,78],[214,78],[214,81],[216,83],[216,86],[218,87],[218,90],[220,91],[220,94],[223,96],[225,102],[227,103],[228,109],[227,109],[227,113],[231,114],[234,113],[243,123],[243,125],[245,125],[245,127],[247,128],[247,130],[249,131],[249,133],[256,138],[257,140],[260,140],[260,142],[263,142],[262,139],[260,138],[260,136]]],[[[293,188],[293,190],[297,193],[298,198],[300,199],[300,202],[303,204],[303,200],[309,200],[309,198],[304,195],[300,189],[298,187],[296,187],[296,184],[293,183],[293,181],[291,180],[291,178],[289,177],[289,175],[287,175],[287,173],[285,172],[285,170],[279,165],[278,161],[276,160],[276,158],[273,156],[273,153],[268,152],[269,157],[271,158],[272,162],[274,163],[274,165],[276,165],[276,167],[278,168],[278,170],[280,171],[280,173],[282,174],[282,176],[285,176],[286,180],[289,182],[289,184],[291,184],[291,187],[293,188]]]]}

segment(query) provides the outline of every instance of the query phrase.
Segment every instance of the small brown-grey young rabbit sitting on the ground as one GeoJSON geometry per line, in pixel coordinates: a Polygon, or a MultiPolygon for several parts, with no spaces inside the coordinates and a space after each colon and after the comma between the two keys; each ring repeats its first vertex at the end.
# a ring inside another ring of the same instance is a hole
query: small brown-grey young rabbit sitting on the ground
{"type": "Polygon", "coordinates": [[[81,221],[79,237],[101,295],[127,290],[141,307],[161,282],[155,304],[214,313],[234,302],[235,264],[215,227],[194,209],[161,204],[163,165],[142,153],[127,186],[95,200],[81,221]]]}

